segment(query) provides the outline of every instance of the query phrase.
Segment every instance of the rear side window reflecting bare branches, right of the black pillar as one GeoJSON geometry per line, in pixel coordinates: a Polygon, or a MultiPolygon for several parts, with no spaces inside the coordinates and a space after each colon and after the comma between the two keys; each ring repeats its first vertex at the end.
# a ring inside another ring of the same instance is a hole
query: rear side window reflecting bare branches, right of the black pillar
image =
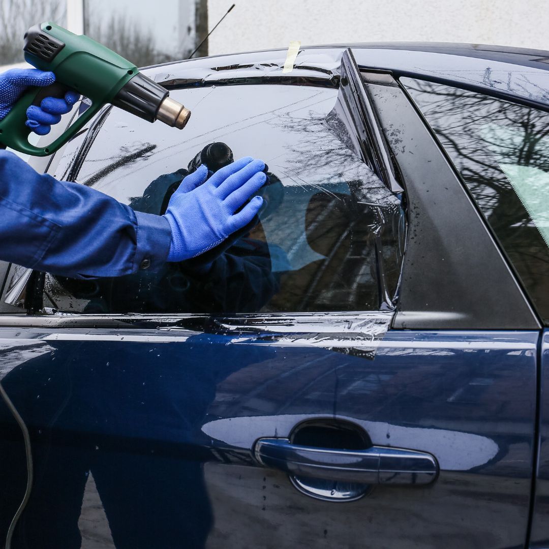
{"type": "Polygon", "coordinates": [[[549,114],[441,84],[401,82],[548,323],[549,114]]]}

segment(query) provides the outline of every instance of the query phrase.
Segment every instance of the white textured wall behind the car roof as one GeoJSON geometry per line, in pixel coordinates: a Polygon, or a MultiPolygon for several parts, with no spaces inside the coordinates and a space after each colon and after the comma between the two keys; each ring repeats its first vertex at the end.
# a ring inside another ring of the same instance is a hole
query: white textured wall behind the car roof
{"type": "MultiPolygon", "coordinates": [[[[212,27],[232,0],[208,0],[212,27]]],[[[548,0],[234,0],[209,53],[350,42],[471,42],[549,50],[548,0]]]]}

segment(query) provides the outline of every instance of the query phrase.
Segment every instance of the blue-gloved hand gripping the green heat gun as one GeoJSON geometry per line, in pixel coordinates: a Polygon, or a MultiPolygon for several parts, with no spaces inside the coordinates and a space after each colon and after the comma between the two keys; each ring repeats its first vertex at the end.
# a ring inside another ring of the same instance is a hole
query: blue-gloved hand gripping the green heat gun
{"type": "MultiPolygon", "coordinates": [[[[53,72],[38,69],[11,69],[0,74],[0,120],[12,110],[13,105],[25,91],[27,86],[49,86],[55,82],[53,72]]],[[[76,92],[66,92],[64,99],[46,97],[40,107],[31,105],[27,109],[25,125],[38,135],[46,135],[52,124],[61,120],[61,114],[66,114],[79,98],[76,92]]]]}

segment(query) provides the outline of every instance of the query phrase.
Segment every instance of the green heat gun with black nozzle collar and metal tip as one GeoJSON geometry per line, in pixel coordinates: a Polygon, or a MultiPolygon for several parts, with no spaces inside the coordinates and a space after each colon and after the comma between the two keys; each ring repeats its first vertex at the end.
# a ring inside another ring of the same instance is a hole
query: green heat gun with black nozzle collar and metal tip
{"type": "Polygon", "coordinates": [[[180,130],[191,111],[170,99],[167,89],[142,75],[137,67],[85,35],[75,35],[54,23],[32,26],[25,33],[25,60],[37,69],[52,71],[51,86],[30,87],[0,121],[0,143],[21,153],[46,156],[75,135],[107,103],[149,122],[160,120],[180,130]],[[88,107],[55,141],[35,147],[28,141],[26,110],[44,97],[64,97],[69,89],[91,100],[88,107]]]}

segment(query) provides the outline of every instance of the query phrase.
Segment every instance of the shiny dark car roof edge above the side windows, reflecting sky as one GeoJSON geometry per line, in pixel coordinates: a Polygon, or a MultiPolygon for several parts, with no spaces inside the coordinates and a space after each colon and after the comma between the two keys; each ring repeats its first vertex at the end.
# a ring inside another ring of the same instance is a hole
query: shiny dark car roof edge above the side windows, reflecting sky
{"type": "Polygon", "coordinates": [[[549,111],[549,52],[485,44],[387,42],[304,46],[293,69],[286,49],[216,55],[147,68],[169,86],[212,83],[337,85],[340,58],[351,49],[362,70],[389,71],[457,86],[549,111]],[[163,76],[164,75],[164,76],[163,76]],[[189,84],[190,82],[190,84],[189,84]]]}

